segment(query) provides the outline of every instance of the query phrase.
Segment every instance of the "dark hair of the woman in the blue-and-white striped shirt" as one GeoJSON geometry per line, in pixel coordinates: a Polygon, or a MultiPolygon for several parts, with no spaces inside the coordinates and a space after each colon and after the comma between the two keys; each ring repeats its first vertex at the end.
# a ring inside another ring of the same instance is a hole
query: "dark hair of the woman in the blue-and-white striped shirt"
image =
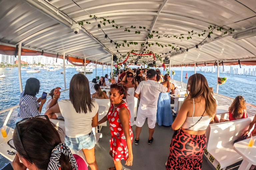
{"type": "Polygon", "coordinates": [[[39,80],[36,78],[29,78],[26,81],[23,96],[25,95],[36,96],[39,93],[39,89],[40,89],[39,80]]]}

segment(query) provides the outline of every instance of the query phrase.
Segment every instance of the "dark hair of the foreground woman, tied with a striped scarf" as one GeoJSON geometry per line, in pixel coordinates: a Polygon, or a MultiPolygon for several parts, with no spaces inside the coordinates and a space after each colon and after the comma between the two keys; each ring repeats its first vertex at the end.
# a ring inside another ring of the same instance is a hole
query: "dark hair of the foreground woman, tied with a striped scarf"
{"type": "MultiPolygon", "coordinates": [[[[58,130],[62,130],[42,118],[28,119],[20,123],[18,127],[20,139],[33,164],[38,169],[47,170],[52,150],[61,143],[58,130]]],[[[17,127],[15,127],[13,133],[13,143],[19,155],[26,158],[26,153],[18,138],[17,127]]],[[[61,153],[60,165],[61,170],[73,169],[69,163],[69,158],[63,153],[61,153]]]]}

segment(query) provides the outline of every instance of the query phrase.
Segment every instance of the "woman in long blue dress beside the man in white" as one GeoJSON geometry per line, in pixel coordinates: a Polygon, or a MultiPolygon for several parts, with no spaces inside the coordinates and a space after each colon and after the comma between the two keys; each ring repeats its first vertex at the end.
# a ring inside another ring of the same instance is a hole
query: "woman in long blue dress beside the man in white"
{"type": "MultiPolygon", "coordinates": [[[[162,84],[166,86],[167,81],[170,81],[170,76],[165,74],[162,84]]],[[[171,126],[173,123],[170,93],[173,94],[174,90],[170,90],[170,92],[166,93],[161,92],[159,94],[156,112],[156,122],[159,126],[171,126]]]]}

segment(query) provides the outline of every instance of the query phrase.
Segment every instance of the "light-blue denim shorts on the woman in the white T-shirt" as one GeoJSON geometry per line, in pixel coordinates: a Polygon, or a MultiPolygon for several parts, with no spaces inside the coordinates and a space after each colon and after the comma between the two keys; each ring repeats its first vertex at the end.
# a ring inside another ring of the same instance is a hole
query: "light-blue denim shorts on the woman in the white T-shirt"
{"type": "Polygon", "coordinates": [[[96,139],[93,132],[80,137],[68,137],[65,136],[65,143],[69,148],[81,150],[81,149],[92,149],[96,144],[96,139]]]}

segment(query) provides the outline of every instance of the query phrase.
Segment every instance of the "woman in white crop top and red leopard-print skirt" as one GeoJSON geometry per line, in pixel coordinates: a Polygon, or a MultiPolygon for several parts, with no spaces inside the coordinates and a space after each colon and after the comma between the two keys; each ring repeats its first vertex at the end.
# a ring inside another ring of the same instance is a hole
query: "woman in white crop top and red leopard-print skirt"
{"type": "Polygon", "coordinates": [[[175,131],[166,170],[202,169],[206,146],[205,129],[213,120],[217,106],[202,74],[190,76],[187,89],[190,90],[190,98],[184,101],[172,124],[175,131]]]}

